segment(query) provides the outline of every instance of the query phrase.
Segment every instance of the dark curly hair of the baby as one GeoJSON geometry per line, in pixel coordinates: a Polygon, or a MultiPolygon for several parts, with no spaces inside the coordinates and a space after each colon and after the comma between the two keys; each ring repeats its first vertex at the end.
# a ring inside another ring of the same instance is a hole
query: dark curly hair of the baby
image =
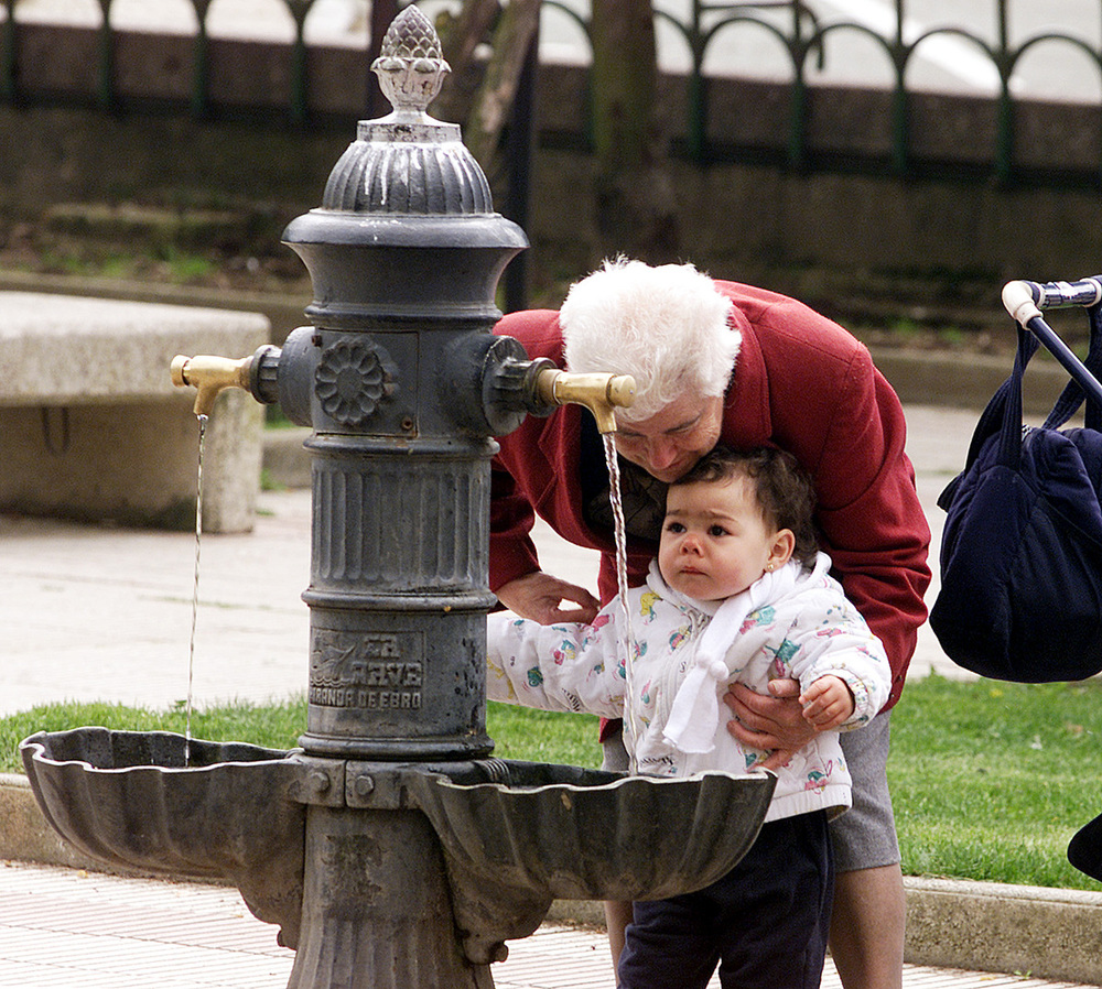
{"type": "Polygon", "coordinates": [[[670,487],[748,478],[766,522],[790,529],[796,536],[792,558],[810,569],[819,552],[814,525],[815,491],[811,477],[790,453],[773,446],[747,450],[717,446],[670,487]]]}

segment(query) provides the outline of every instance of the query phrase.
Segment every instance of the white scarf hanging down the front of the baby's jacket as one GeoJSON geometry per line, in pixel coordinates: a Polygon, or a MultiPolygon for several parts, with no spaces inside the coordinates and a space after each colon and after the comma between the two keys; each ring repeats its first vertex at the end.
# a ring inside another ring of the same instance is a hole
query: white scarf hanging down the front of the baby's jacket
{"type": "Polygon", "coordinates": [[[669,745],[682,752],[711,752],[715,748],[715,731],[720,725],[719,687],[732,673],[727,669],[727,651],[746,616],[791,591],[801,573],[800,565],[789,561],[779,570],[766,570],[746,590],[720,605],[700,637],[692,666],[673,698],[670,717],[662,729],[669,745]]]}

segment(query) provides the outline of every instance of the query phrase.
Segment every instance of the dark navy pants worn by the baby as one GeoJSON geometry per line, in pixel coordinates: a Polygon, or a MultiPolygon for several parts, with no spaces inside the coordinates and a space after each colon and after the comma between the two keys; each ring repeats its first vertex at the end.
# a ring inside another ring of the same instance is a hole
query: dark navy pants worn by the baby
{"type": "Polygon", "coordinates": [[[683,896],[635,904],[620,989],[818,989],[827,956],[834,858],[827,814],[761,828],[734,869],[683,896]]]}

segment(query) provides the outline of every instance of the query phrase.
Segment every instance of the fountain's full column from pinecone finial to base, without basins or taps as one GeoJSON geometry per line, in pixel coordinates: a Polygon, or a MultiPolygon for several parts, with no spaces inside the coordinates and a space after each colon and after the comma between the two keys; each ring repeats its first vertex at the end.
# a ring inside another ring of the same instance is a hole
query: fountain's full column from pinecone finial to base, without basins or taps
{"type": "Polygon", "coordinates": [[[425,112],[447,65],[415,7],[391,24],[372,69],[393,112],[359,123],[322,206],[284,232],[310,270],[312,325],[291,335],[267,382],[314,430],[301,745],[317,786],[306,794],[289,985],[486,987],[488,967],[455,937],[431,825],[402,808],[400,784],[389,802],[372,791],[387,765],[493,748],[485,619],[497,447],[482,382],[488,355],[512,349],[490,333],[494,296],[528,241],[493,211],[460,128],[425,112]]]}

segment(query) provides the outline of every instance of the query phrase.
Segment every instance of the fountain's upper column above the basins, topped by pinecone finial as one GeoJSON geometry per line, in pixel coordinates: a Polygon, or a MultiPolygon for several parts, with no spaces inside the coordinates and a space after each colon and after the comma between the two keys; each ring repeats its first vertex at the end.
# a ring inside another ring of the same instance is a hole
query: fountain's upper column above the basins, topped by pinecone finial
{"type": "MultiPolygon", "coordinates": [[[[323,204],[284,241],[313,324],[278,367],[313,426],[309,753],[477,758],[485,731],[489,461],[482,370],[523,231],[495,214],[457,124],[425,113],[447,64],[409,8],[372,66],[395,105],[361,121],[323,204]]],[[[511,343],[511,341],[510,341],[511,343]]],[[[504,345],[507,346],[507,345],[504,345]]],[[[520,357],[525,357],[520,352],[520,357]]]]}

